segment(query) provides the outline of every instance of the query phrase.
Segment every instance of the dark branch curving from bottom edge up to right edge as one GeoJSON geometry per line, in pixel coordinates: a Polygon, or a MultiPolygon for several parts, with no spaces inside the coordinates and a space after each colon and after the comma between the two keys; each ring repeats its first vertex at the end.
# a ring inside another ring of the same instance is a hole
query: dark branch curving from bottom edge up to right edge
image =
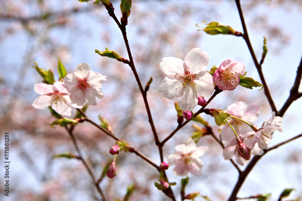
{"type": "Polygon", "coordinates": [[[286,141],[281,142],[281,143],[279,143],[279,144],[277,144],[275,146],[272,146],[271,148],[264,149],[263,150],[264,153],[262,155],[255,155],[253,157],[253,159],[251,160],[251,162],[249,162],[249,165],[247,165],[246,169],[239,174],[238,181],[237,181],[235,187],[233,188],[233,192],[231,193],[231,195],[230,195],[230,197],[229,197],[229,199],[227,201],[235,201],[236,199],[238,199],[236,196],[237,196],[237,193],[238,193],[240,187],[242,186],[242,184],[245,181],[245,179],[246,179],[247,175],[249,174],[249,172],[252,170],[252,168],[255,166],[255,164],[259,161],[259,159],[263,155],[265,155],[267,152],[269,152],[269,151],[271,151],[273,149],[276,149],[276,148],[278,148],[281,145],[289,143],[292,140],[295,140],[295,139],[297,139],[299,137],[302,137],[302,133],[300,133],[299,135],[297,135],[297,136],[295,136],[295,137],[293,137],[293,138],[291,138],[289,140],[286,140],[286,141]]]}

